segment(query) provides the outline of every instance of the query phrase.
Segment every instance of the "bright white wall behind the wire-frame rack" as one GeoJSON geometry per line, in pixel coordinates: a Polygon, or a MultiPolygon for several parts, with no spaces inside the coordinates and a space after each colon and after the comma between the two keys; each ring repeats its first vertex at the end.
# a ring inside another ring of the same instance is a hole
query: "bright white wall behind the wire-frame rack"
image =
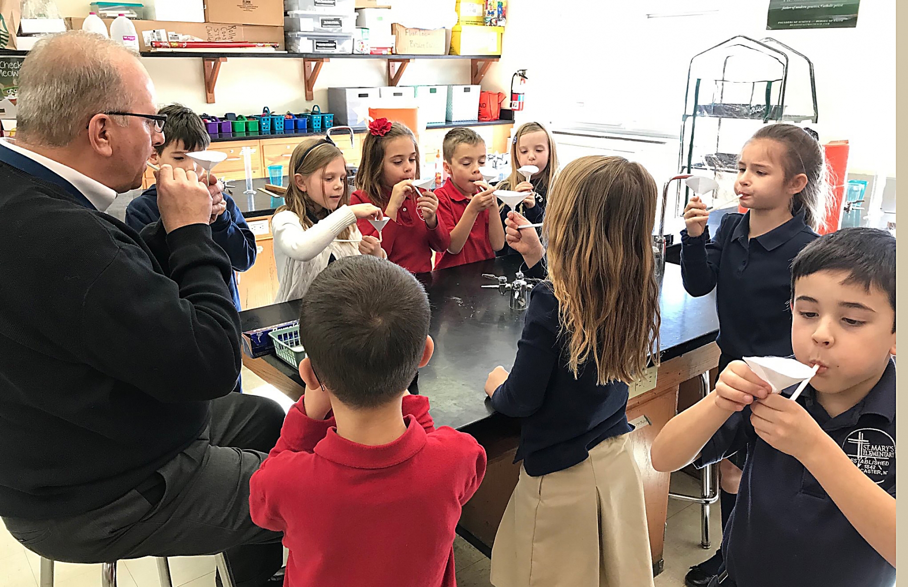
{"type": "Polygon", "coordinates": [[[528,70],[533,119],[678,132],[690,58],[735,34],[771,36],[811,58],[824,141],[851,143],[849,169],[895,174],[895,0],[864,0],[853,29],[766,31],[769,0],[510,0],[502,59],[487,89],[528,70]],[[707,5],[717,15],[647,19],[707,5]],[[578,108],[577,103],[586,104],[578,108]]]}

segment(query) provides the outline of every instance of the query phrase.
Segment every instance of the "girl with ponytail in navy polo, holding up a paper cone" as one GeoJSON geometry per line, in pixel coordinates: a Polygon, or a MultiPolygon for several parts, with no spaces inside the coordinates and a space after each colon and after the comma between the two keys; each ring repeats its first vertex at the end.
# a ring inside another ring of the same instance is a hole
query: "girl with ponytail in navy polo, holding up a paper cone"
{"type": "MultiPolygon", "coordinates": [[[[695,196],[687,204],[681,276],[692,296],[716,289],[719,372],[742,357],[792,355],[791,264],[817,237],[825,185],[823,148],[816,137],[794,124],[770,124],[745,144],[738,160],[735,194],[745,214],[726,214],[710,240],[706,203],[695,196]]],[[[719,464],[723,527],[735,506],[744,457],[719,464]]],[[[721,563],[720,550],[691,567],[686,584],[708,584],[721,563]]]]}

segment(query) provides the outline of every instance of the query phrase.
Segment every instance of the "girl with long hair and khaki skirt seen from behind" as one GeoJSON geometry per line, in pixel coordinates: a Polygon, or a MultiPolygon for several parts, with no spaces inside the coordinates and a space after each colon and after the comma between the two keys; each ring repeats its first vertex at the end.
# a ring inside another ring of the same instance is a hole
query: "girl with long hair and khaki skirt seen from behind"
{"type": "MultiPolygon", "coordinates": [[[[601,156],[569,163],[549,191],[548,278],[530,294],[513,370],[486,382],[492,406],[521,418],[523,465],[492,549],[497,587],[653,585],[626,410],[627,384],[658,362],[656,191],[639,163],[601,156]]],[[[507,222],[537,269],[538,235],[516,228],[516,212],[507,222]]]]}

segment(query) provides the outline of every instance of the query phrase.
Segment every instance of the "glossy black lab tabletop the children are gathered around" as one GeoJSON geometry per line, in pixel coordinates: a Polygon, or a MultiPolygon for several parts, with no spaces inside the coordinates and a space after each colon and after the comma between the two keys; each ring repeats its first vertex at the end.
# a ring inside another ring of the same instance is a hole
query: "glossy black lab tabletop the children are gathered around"
{"type": "MultiPolygon", "coordinates": [[[[419,370],[419,393],[429,396],[437,426],[464,428],[495,412],[485,400],[483,387],[498,365],[514,364],[523,329],[524,312],[508,307],[508,296],[497,289],[481,289],[493,282],[483,273],[513,279],[519,256],[470,263],[423,273],[418,277],[429,293],[432,321],[429,334],[435,354],[419,370]]],[[[712,294],[691,298],[681,285],[681,269],[666,265],[660,297],[662,308],[661,357],[679,357],[716,339],[719,323],[712,294]]],[[[240,313],[242,329],[264,328],[299,318],[300,301],[290,301],[240,313]]],[[[281,373],[302,385],[299,374],[278,357],[262,357],[281,373]]]]}

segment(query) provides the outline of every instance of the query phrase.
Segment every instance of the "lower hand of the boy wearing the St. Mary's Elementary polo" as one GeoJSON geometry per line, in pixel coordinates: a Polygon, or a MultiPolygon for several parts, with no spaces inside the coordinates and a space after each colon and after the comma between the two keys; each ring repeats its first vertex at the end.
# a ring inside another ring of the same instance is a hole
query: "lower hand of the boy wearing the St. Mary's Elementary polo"
{"type": "Polygon", "coordinates": [[[826,433],[797,402],[770,394],[750,406],[750,423],[766,444],[804,462],[826,433]]]}

